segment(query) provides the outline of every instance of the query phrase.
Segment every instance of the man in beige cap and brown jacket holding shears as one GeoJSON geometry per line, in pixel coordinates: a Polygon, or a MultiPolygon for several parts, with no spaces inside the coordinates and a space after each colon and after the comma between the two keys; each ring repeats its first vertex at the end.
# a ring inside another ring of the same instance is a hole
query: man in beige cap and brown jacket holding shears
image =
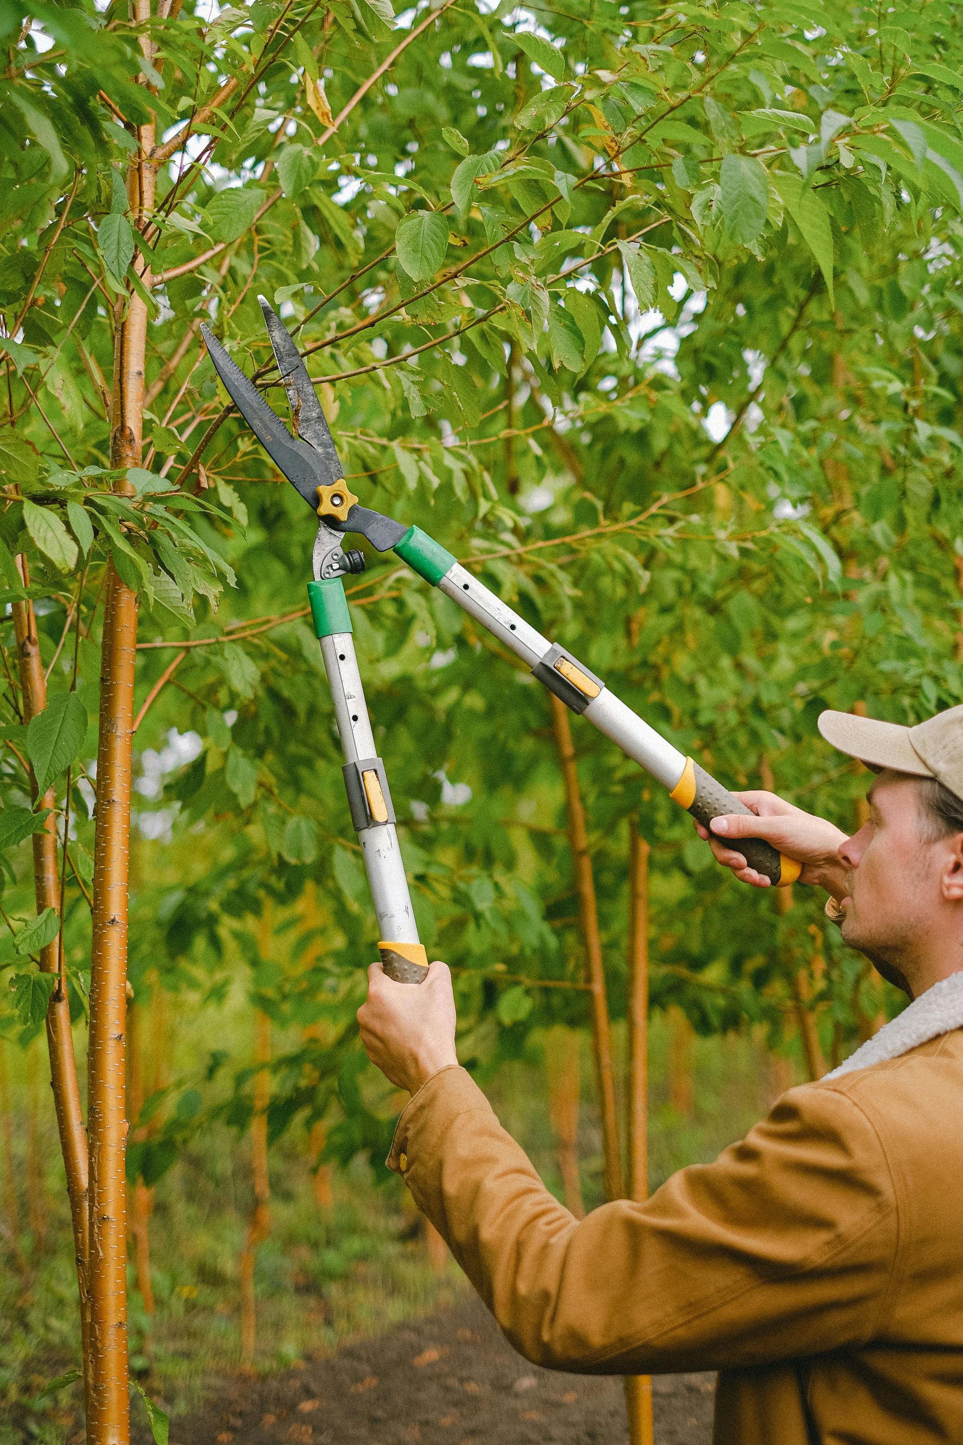
{"type": "Polygon", "coordinates": [[[716,1445],[963,1442],[963,707],[820,731],[876,772],[869,822],[744,793],[758,821],[716,819],[712,847],[759,886],[741,837],[798,858],[914,1001],[713,1165],[576,1222],[458,1066],[445,964],[420,988],[374,964],[361,1036],[414,1095],[390,1166],[527,1358],[718,1368],[716,1445]]]}

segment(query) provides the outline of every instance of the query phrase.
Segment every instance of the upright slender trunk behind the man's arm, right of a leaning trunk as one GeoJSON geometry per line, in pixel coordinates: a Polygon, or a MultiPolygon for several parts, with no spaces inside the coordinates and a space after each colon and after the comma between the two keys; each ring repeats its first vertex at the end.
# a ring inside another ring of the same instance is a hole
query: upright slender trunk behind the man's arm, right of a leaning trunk
{"type": "MultiPolygon", "coordinates": [[[[628,868],[628,1196],[648,1198],[648,842],[635,824],[628,868]]],[[[625,1376],[631,1445],[654,1445],[653,1377],[625,1376]]]]}

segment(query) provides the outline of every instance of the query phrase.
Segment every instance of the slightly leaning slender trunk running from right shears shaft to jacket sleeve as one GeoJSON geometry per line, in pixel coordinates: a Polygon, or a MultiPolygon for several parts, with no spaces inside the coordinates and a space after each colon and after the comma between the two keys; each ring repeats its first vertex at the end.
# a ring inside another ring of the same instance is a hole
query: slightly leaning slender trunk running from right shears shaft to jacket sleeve
{"type": "Polygon", "coordinates": [[[605,994],[605,970],[602,965],[602,939],[599,936],[599,913],[595,900],[595,879],[589,857],[589,841],[585,828],[585,806],[579,790],[579,775],[575,766],[575,747],[569,712],[554,694],[552,704],[552,725],[554,730],[565,796],[569,818],[569,845],[575,864],[575,881],[579,894],[579,919],[589,987],[592,990],[592,1043],[595,1052],[595,1074],[602,1114],[602,1146],[605,1152],[605,1194],[609,1199],[622,1198],[622,1149],[618,1137],[615,1113],[615,1069],[612,1065],[612,1029],[609,1023],[608,998],[605,994]]]}

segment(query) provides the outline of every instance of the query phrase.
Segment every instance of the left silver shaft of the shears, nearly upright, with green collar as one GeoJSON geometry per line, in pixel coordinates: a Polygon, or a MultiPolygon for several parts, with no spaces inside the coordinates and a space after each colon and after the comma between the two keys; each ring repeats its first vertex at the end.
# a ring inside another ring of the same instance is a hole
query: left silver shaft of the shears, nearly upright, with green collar
{"type": "Polygon", "coordinates": [[[388,978],[420,984],[427,955],[414,922],[388,779],[374,746],[345,590],[341,578],[331,578],[309,582],[308,595],[345,754],[342,773],[351,821],[378,919],[381,962],[388,978]]]}

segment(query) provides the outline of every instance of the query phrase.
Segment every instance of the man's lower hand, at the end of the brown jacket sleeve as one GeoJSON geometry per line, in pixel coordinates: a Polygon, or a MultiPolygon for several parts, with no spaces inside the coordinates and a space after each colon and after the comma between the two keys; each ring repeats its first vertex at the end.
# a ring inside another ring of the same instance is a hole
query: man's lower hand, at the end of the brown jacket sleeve
{"type": "Polygon", "coordinates": [[[448,964],[435,961],[422,984],[396,984],[381,964],[371,964],[358,1023],[371,1062],[409,1094],[417,1094],[432,1074],[458,1064],[448,964]]]}

